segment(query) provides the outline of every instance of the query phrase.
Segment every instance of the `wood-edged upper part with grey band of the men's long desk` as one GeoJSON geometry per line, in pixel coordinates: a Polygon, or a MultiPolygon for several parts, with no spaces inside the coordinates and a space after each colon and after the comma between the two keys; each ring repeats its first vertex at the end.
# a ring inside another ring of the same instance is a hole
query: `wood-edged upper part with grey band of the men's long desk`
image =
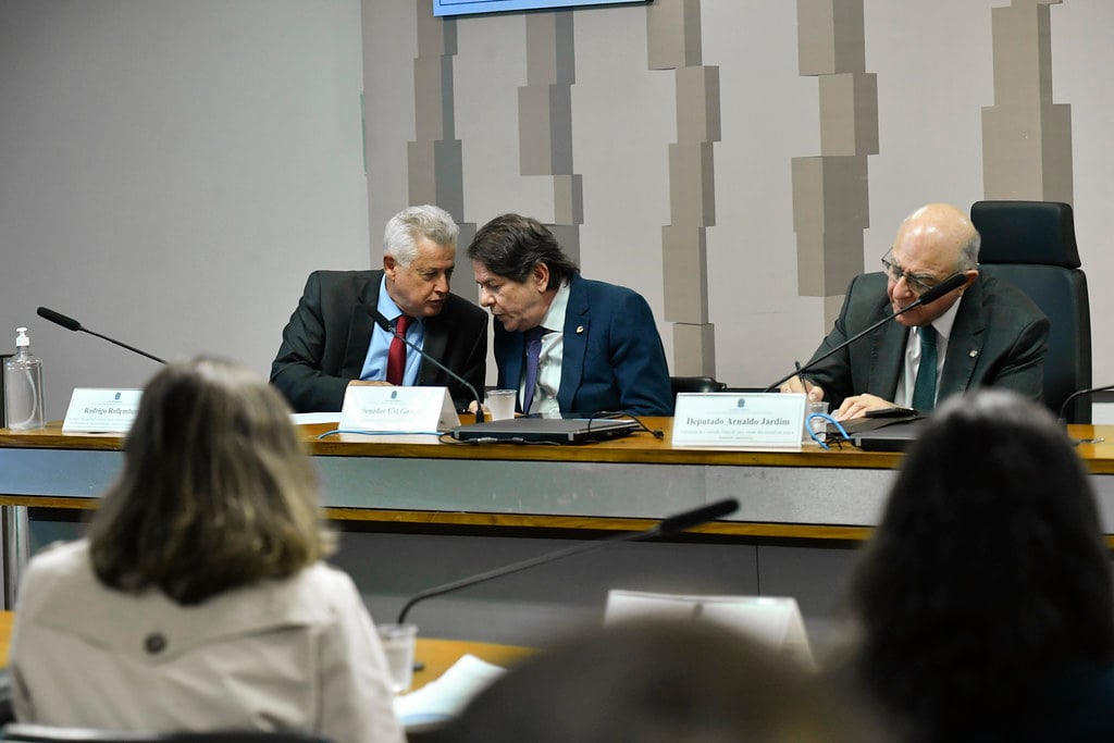
{"type": "MultiPolygon", "coordinates": [[[[739,512],[694,529],[744,538],[849,539],[877,526],[902,454],[847,443],[825,451],[674,447],[672,418],[584,446],[481,444],[430,434],[299,427],[330,518],[403,526],[636,530],[723,497],[739,512]]],[[[1114,535],[1114,426],[1069,426],[1114,535]]],[[[120,434],[0,429],[0,505],[92,508],[121,462],[120,434]]],[[[973,452],[977,457],[977,452],[973,452]]]]}

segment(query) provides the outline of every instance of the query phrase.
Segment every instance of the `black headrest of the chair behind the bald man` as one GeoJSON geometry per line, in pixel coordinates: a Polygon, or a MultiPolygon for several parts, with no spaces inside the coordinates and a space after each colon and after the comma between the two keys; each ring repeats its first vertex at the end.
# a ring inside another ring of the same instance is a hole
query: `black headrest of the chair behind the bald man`
{"type": "Polygon", "coordinates": [[[975,202],[971,223],[983,236],[979,263],[1079,267],[1072,205],[1059,202],[975,202]]]}

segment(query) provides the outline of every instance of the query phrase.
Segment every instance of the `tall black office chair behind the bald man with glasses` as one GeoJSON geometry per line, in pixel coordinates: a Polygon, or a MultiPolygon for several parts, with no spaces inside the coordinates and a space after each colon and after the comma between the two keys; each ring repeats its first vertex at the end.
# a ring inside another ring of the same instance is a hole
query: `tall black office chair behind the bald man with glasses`
{"type": "MultiPolygon", "coordinates": [[[[983,235],[979,270],[1017,286],[1047,315],[1045,404],[1059,414],[1064,400],[1091,387],[1091,304],[1079,270],[1071,204],[976,202],[971,222],[983,235]]],[[[1073,400],[1064,417],[1091,422],[1091,400],[1073,400]]]]}

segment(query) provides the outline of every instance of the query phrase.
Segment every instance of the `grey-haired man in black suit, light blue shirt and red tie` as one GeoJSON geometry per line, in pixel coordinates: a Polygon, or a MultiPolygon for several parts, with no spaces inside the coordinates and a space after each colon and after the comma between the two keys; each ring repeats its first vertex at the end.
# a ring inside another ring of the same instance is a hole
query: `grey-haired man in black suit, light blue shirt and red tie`
{"type": "Polygon", "coordinates": [[[391,375],[399,384],[448,387],[457,409],[468,407],[473,398],[463,384],[404,345],[389,369],[392,338],[371,315],[405,324],[409,341],[482,390],[487,313],[449,293],[458,233],[443,209],[410,207],[387,224],[382,271],[310,274],[271,365],[271,381],[295,411],[338,411],[349,384],[389,384],[391,375]]]}

